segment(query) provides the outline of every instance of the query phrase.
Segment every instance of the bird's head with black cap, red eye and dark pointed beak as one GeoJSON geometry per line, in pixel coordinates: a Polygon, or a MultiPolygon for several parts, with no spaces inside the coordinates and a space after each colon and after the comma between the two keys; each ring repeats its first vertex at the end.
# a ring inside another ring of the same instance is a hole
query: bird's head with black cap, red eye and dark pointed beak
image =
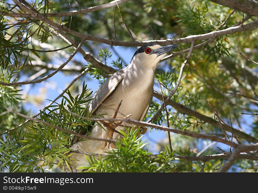
{"type": "Polygon", "coordinates": [[[147,43],[140,47],[131,60],[131,63],[136,63],[141,66],[156,68],[159,61],[165,56],[165,54],[174,48],[177,44],[170,44],[167,46],[160,46],[156,43],[147,43]]]}

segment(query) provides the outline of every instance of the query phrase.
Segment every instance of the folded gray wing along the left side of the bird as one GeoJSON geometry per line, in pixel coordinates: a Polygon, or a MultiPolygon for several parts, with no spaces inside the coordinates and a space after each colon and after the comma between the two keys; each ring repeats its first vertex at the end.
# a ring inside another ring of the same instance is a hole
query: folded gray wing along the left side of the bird
{"type": "Polygon", "coordinates": [[[93,100],[89,104],[89,112],[92,114],[99,105],[115,90],[116,86],[124,78],[124,69],[112,74],[94,93],[93,100]]]}

